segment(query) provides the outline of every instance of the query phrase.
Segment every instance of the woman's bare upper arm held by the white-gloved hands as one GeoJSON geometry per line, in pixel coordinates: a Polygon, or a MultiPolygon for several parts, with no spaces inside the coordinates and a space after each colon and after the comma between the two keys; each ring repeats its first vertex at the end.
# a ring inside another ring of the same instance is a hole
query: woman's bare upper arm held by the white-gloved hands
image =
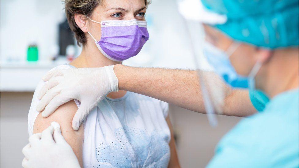
{"type": "Polygon", "coordinates": [[[51,125],[52,121],[58,122],[61,127],[62,136],[72,147],[82,167],[82,146],[84,138],[83,125],[80,126],[78,131],[74,131],[72,127],[72,120],[77,110],[77,105],[74,100],[71,100],[70,102],[58,107],[56,111],[47,118],[43,118],[41,113],[38,114],[33,125],[33,133],[40,133],[44,129],[47,129],[51,125]]]}

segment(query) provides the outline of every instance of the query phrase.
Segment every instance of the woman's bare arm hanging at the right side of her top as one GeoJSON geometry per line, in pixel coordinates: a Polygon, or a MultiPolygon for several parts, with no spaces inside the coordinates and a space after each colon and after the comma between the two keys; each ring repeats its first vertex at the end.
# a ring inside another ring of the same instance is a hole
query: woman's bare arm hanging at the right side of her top
{"type": "Polygon", "coordinates": [[[167,122],[167,125],[169,127],[170,136],[171,136],[171,139],[170,139],[170,142],[169,142],[170,160],[169,160],[168,167],[169,168],[180,168],[179,159],[178,159],[178,156],[177,156],[177,153],[176,153],[176,142],[174,140],[172,124],[170,122],[169,116],[166,118],[166,122],[167,122]]]}

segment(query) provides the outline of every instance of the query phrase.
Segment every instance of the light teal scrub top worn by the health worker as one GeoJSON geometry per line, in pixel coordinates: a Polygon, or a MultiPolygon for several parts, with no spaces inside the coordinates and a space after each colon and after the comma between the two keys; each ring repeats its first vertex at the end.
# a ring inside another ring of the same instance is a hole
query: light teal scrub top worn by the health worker
{"type": "Polygon", "coordinates": [[[242,119],[207,167],[299,167],[299,90],[275,96],[263,112],[242,119]]]}

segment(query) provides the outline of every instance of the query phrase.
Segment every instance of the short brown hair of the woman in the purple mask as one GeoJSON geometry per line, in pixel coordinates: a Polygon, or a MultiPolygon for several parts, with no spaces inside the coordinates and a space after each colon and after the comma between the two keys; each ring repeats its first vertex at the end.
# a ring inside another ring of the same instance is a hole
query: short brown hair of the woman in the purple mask
{"type": "MultiPolygon", "coordinates": [[[[78,46],[86,44],[85,33],[78,27],[75,22],[75,14],[91,16],[93,10],[101,3],[102,0],[64,0],[66,18],[70,29],[74,32],[78,46]]],[[[145,0],[146,6],[150,0],[145,0]]],[[[85,18],[86,19],[86,18],[85,18]]]]}

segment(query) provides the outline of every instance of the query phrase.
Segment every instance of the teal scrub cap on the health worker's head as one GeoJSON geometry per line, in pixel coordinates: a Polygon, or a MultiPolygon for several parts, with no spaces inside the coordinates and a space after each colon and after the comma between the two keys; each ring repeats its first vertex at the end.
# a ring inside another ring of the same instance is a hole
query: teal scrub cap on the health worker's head
{"type": "Polygon", "coordinates": [[[298,0],[202,0],[211,12],[226,15],[216,24],[231,38],[257,47],[298,46],[298,0]]]}

